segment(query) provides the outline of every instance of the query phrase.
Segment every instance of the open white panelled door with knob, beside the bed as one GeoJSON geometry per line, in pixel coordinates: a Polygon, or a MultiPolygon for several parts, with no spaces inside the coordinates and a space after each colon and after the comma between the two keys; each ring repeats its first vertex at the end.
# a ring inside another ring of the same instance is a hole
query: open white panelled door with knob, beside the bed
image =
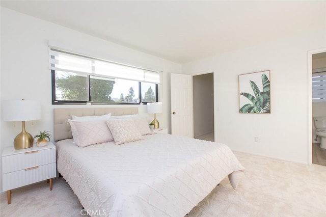
{"type": "Polygon", "coordinates": [[[171,134],[194,137],[192,75],[171,74],[171,134]]]}

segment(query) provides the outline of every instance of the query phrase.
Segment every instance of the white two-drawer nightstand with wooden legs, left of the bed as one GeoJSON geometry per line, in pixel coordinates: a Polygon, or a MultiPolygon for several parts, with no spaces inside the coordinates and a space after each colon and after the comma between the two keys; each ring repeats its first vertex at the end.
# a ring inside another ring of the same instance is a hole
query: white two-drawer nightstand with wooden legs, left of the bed
{"type": "Polygon", "coordinates": [[[52,178],[56,177],[56,146],[49,143],[44,147],[14,149],[7,147],[2,153],[2,184],[7,191],[8,204],[11,189],[48,180],[52,190],[52,178]]]}

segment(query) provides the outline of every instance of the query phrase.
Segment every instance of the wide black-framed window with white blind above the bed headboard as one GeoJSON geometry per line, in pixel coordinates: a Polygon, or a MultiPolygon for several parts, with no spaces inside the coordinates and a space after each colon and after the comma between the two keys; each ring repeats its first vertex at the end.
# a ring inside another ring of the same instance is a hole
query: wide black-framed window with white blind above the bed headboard
{"type": "Polygon", "coordinates": [[[158,101],[156,71],[50,48],[52,104],[139,104],[158,101]]]}

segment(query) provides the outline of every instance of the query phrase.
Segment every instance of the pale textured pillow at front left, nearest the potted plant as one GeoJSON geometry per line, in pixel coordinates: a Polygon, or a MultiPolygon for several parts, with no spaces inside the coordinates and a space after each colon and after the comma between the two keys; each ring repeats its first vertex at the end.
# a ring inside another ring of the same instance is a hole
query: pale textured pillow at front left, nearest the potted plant
{"type": "Polygon", "coordinates": [[[74,143],[79,147],[114,141],[105,121],[80,122],[68,120],[74,143]]]}

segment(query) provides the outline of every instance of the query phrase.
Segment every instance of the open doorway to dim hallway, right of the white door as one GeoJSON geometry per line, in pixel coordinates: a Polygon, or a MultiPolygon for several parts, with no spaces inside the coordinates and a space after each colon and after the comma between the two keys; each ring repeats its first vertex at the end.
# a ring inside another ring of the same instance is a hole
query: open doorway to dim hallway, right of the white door
{"type": "Polygon", "coordinates": [[[194,138],[214,142],[214,75],[193,76],[194,138]]]}

